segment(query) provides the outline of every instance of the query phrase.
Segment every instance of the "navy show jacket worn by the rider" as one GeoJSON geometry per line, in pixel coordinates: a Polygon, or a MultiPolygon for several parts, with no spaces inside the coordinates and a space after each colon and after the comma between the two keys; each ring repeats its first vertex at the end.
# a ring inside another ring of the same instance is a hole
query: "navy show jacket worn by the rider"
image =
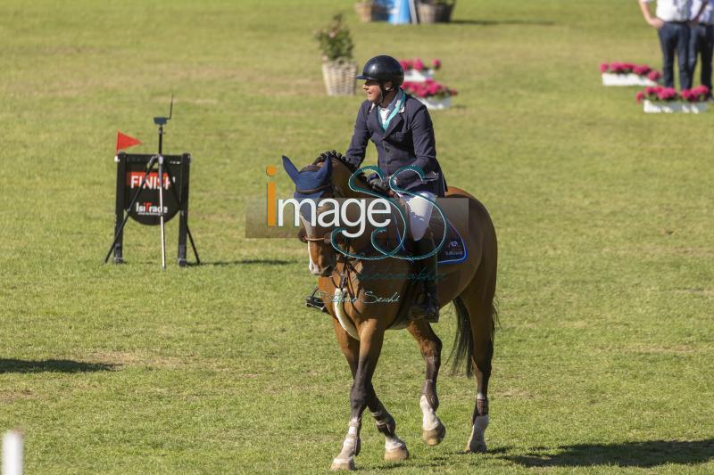
{"type": "Polygon", "coordinates": [[[439,162],[436,161],[436,140],[434,127],[427,106],[405,95],[402,109],[382,129],[378,119],[378,108],[370,102],[362,102],[350,148],[345,155],[353,163],[364,160],[369,139],[375,143],[378,152],[378,167],[388,176],[406,165],[414,165],[424,170],[425,180],[411,171],[399,174],[396,184],[410,192],[433,192],[444,196],[446,183],[439,162]]]}

